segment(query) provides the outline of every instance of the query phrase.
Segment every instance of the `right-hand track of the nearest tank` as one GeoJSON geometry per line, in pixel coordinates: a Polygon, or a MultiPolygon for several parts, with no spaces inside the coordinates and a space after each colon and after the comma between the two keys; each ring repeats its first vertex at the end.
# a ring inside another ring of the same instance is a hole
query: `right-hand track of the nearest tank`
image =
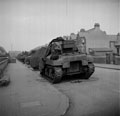
{"type": "Polygon", "coordinates": [[[87,67],[84,67],[84,73],[83,73],[83,78],[84,79],[89,79],[90,76],[93,74],[95,70],[94,64],[93,63],[89,63],[87,67]]]}

